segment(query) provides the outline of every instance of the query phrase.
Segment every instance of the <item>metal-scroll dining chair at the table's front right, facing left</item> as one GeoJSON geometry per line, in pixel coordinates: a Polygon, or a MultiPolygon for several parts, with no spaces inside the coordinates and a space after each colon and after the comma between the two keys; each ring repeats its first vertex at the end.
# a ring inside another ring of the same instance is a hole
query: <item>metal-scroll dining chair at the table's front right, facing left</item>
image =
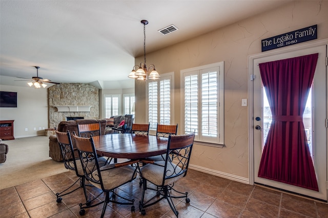
{"type": "Polygon", "coordinates": [[[139,202],[139,211],[142,215],[146,214],[145,208],[158,203],[162,199],[167,199],[174,214],[178,216],[172,198],[186,198],[186,203],[190,202],[188,192],[180,192],[174,189],[173,186],[175,182],[187,174],[194,138],[195,133],[169,135],[165,161],[147,161],[148,164],[140,168],[140,177],[144,181],[141,201],[139,202]],[[145,202],[146,190],[154,190],[147,187],[147,182],[156,185],[157,190],[155,189],[155,195],[152,198],[147,197],[149,200],[145,202]],[[177,192],[179,196],[173,196],[173,191],[177,192]],[[159,196],[161,197],[156,200],[159,196]]]}

